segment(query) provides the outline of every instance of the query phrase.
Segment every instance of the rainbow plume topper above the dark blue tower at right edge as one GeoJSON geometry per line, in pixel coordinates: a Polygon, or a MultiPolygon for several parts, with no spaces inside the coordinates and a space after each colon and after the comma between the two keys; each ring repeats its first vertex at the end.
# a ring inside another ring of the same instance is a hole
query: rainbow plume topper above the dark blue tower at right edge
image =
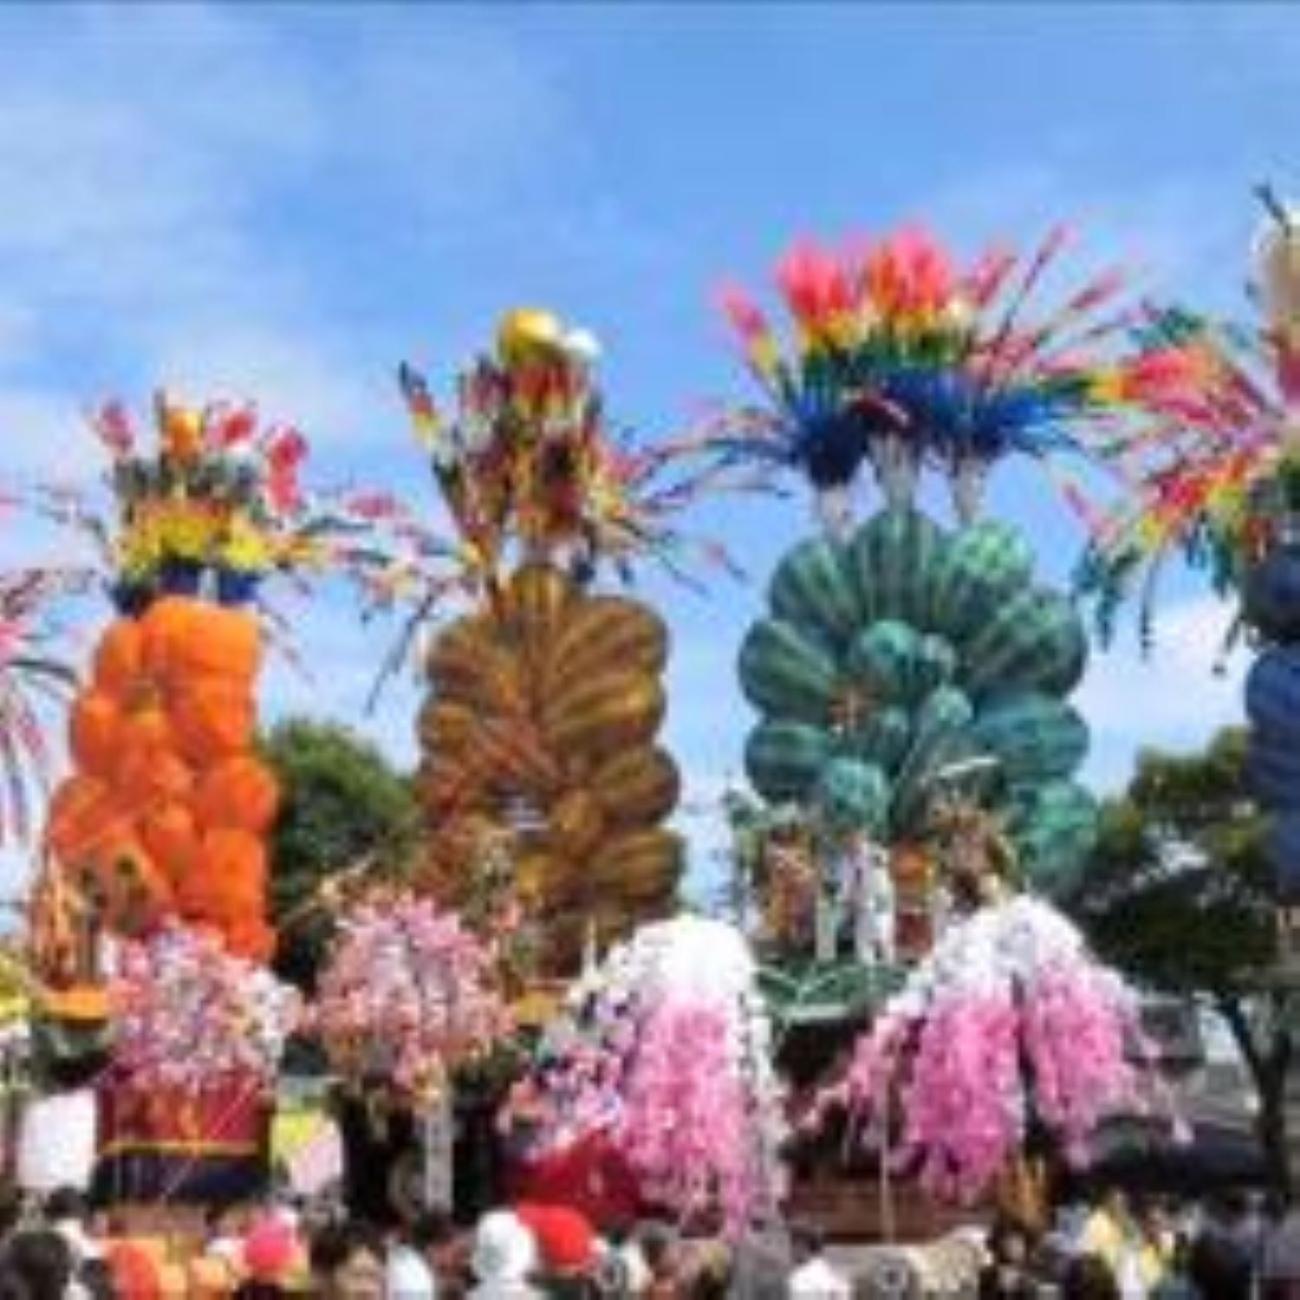
{"type": "Polygon", "coordinates": [[[1130,382],[1152,419],[1096,447],[1121,497],[1092,512],[1078,573],[1104,636],[1138,585],[1149,638],[1173,555],[1208,572],[1218,593],[1240,593],[1252,566],[1300,538],[1300,225],[1268,202],[1256,328],[1183,308],[1150,308],[1138,328],[1130,382]]]}

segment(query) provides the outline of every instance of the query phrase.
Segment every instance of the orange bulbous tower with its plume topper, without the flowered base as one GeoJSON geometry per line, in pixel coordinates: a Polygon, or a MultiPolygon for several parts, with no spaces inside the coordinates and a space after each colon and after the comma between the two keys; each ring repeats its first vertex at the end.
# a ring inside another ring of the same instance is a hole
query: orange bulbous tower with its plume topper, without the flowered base
{"type": "Polygon", "coordinates": [[[113,455],[118,616],[73,702],[73,774],[46,849],[109,928],[142,933],[178,914],[266,961],[277,793],[255,753],[263,632],[248,604],[294,534],[304,443],[260,432],[244,408],[160,396],[156,416],[153,454],[136,450],[122,408],[95,417],[113,455]]]}

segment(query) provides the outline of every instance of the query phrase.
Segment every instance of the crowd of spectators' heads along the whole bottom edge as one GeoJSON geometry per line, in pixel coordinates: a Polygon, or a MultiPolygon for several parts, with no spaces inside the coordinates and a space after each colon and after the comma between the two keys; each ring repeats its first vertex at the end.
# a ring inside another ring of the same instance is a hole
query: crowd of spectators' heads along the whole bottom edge
{"type": "MultiPolygon", "coordinates": [[[[685,1239],[660,1222],[598,1234],[558,1205],[493,1210],[473,1227],[422,1213],[390,1231],[335,1201],[217,1208],[181,1249],[187,1280],[74,1191],[0,1201],[0,1300],[850,1300],[918,1297],[871,1268],[850,1279],[820,1235],[780,1252],[685,1239]]],[[[1110,1191],[1063,1206],[1036,1235],[1011,1219],[983,1236],[971,1300],[1300,1300],[1300,1206],[1216,1200],[1173,1206],[1110,1191]]],[[[946,1292],[945,1292],[946,1295],[946,1292]]]]}

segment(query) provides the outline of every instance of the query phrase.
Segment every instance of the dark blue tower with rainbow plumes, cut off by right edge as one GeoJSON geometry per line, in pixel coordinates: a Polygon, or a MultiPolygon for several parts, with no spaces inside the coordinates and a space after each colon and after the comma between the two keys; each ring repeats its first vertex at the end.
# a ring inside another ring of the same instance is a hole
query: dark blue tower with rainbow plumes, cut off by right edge
{"type": "Polygon", "coordinates": [[[1300,218],[1265,192],[1258,320],[1234,326],[1152,308],[1139,329],[1158,424],[1097,450],[1121,493],[1087,512],[1079,588],[1102,638],[1135,594],[1144,646],[1174,558],[1236,602],[1230,640],[1256,651],[1245,682],[1248,779],[1271,816],[1283,904],[1300,900],[1300,218]]]}

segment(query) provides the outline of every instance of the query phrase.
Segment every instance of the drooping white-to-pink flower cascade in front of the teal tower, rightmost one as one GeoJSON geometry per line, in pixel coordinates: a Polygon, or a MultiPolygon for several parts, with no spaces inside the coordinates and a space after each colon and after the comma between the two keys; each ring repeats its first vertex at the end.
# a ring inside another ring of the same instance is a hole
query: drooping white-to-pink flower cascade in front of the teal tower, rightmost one
{"type": "Polygon", "coordinates": [[[1123,982],[1060,914],[1015,898],[948,932],[814,1119],[846,1104],[878,1140],[901,1119],[897,1162],[935,1195],[970,1200],[1022,1148],[1031,1118],[1086,1162],[1097,1124],[1139,1097],[1139,1040],[1123,982]]]}

